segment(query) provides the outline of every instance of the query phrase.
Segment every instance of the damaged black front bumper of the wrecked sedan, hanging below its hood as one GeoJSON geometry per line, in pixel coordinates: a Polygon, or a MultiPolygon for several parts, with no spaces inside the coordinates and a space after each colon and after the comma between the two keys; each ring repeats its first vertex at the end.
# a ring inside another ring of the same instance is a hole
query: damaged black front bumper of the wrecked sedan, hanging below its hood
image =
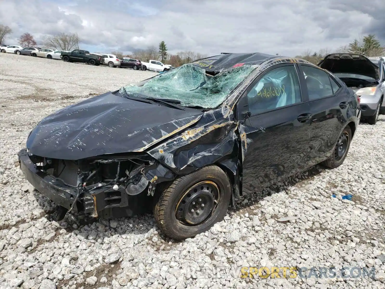
{"type": "Polygon", "coordinates": [[[122,184],[100,188],[93,185],[91,192],[79,191],[82,185],[77,187],[68,185],[59,178],[39,170],[28,156],[27,149],[19,151],[18,159],[20,169],[34,188],[54,203],[72,212],[84,212],[99,218],[119,218],[149,210],[146,206],[149,203],[147,193],[129,195],[122,184]]]}

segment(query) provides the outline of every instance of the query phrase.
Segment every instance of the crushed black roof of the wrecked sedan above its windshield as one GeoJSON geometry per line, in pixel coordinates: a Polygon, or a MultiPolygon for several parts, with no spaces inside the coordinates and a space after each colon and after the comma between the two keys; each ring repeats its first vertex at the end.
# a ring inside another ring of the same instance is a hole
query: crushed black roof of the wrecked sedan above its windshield
{"type": "Polygon", "coordinates": [[[271,55],[271,54],[264,54],[260,52],[254,52],[254,53],[222,53],[219,55],[206,57],[203,59],[194,60],[193,62],[190,62],[191,64],[194,64],[196,66],[199,66],[201,68],[204,68],[207,71],[214,71],[219,72],[226,69],[230,69],[232,67],[242,66],[244,64],[262,64],[263,62],[266,62],[267,60],[271,61],[278,61],[281,60],[282,63],[284,62],[303,62],[307,64],[312,64],[311,62],[308,62],[303,59],[299,58],[292,58],[292,57],[286,57],[286,56],[279,56],[279,55],[271,55]]]}

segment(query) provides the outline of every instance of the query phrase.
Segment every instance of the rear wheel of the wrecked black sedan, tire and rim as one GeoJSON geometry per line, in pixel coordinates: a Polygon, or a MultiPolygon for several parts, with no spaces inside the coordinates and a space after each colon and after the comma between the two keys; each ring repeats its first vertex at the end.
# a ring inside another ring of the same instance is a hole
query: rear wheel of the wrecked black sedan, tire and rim
{"type": "Polygon", "coordinates": [[[327,168],[338,168],[340,165],[342,165],[343,161],[348,155],[351,141],[352,130],[350,129],[350,126],[346,126],[346,128],[344,128],[340,134],[336,145],[334,146],[333,153],[327,160],[323,161],[322,164],[327,168]]]}

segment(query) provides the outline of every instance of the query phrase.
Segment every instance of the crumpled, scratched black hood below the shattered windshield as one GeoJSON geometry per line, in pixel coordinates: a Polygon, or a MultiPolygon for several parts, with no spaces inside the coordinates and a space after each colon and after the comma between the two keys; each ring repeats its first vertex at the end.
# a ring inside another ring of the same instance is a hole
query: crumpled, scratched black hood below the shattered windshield
{"type": "Polygon", "coordinates": [[[196,123],[202,114],[107,92],[44,118],[28,136],[27,149],[33,155],[63,160],[144,151],[196,123]]]}

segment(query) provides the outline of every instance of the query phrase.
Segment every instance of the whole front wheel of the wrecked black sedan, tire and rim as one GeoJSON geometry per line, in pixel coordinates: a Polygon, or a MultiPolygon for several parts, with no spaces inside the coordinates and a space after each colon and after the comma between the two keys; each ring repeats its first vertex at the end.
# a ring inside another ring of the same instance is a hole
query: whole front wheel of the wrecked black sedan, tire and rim
{"type": "Polygon", "coordinates": [[[206,232],[226,214],[231,190],[228,176],[215,165],[162,183],[157,192],[159,199],[154,205],[159,229],[175,240],[206,232]]]}

